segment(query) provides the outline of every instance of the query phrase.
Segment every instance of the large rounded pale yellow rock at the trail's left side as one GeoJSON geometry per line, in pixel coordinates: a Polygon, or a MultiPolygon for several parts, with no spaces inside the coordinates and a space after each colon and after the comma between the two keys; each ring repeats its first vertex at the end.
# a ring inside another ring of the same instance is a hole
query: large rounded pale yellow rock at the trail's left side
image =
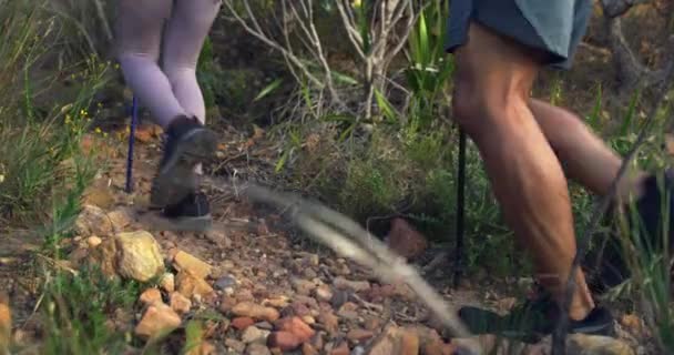
{"type": "Polygon", "coordinates": [[[160,245],[149,232],[120,233],[115,242],[121,276],[147,282],[164,272],[160,245]]]}

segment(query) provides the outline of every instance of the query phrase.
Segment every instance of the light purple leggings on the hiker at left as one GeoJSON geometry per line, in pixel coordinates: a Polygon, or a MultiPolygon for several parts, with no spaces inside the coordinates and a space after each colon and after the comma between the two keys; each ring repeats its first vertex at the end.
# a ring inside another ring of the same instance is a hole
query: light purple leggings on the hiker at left
{"type": "Polygon", "coordinates": [[[205,123],[196,63],[222,0],[118,1],[116,58],[133,94],[163,128],[180,115],[205,123]]]}

